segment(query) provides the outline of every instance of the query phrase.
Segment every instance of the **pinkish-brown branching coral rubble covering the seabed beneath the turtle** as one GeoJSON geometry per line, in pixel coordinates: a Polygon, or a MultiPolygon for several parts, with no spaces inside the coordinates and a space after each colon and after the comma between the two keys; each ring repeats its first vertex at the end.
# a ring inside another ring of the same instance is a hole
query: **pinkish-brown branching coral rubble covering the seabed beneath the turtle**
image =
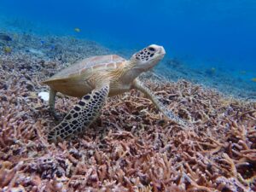
{"type": "MultiPolygon", "coordinates": [[[[166,121],[131,90],[108,99],[83,137],[49,144],[56,122],[37,96],[46,89],[38,82],[57,65],[21,57],[0,61],[2,191],[255,191],[255,102],[186,81],[145,81],[194,129],[166,121]]],[[[64,114],[75,101],[61,96],[56,108],[64,114]]]]}

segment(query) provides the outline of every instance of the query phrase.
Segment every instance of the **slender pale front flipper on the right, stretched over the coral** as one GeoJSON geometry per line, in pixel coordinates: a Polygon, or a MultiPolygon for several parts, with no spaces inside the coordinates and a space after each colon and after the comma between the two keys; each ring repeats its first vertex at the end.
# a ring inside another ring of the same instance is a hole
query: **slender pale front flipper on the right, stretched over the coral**
{"type": "Polygon", "coordinates": [[[156,96],[149,90],[146,86],[143,85],[143,83],[137,79],[135,79],[132,83],[131,88],[135,88],[137,90],[142,91],[148,98],[154,103],[154,105],[160,109],[162,113],[166,116],[167,119],[171,119],[172,121],[175,121],[179,125],[188,125],[187,122],[185,122],[183,119],[178,118],[175,114],[172,113],[172,111],[168,108],[166,108],[156,96]]]}

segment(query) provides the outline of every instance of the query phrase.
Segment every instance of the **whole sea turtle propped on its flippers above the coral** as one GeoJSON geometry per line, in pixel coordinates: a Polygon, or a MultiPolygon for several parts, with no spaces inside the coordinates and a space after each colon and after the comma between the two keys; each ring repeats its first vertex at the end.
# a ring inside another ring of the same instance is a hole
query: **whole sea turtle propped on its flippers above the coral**
{"type": "Polygon", "coordinates": [[[50,87],[49,109],[53,114],[57,92],[80,98],[61,123],[49,131],[49,142],[55,143],[83,132],[99,115],[108,96],[116,96],[131,89],[141,90],[168,119],[183,124],[182,119],[161,104],[137,79],[139,74],[154,67],[165,54],[162,46],[151,44],[132,55],[129,61],[119,55],[93,56],[76,62],[44,81],[50,87]]]}

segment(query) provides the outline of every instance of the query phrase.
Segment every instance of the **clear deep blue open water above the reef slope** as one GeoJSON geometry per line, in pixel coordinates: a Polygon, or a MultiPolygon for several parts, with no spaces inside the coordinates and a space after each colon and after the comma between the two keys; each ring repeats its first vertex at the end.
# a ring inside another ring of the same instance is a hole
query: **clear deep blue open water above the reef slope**
{"type": "Polygon", "coordinates": [[[0,16],[26,20],[22,30],[88,38],[111,49],[160,44],[185,66],[218,69],[256,86],[254,0],[1,0],[0,16]]]}

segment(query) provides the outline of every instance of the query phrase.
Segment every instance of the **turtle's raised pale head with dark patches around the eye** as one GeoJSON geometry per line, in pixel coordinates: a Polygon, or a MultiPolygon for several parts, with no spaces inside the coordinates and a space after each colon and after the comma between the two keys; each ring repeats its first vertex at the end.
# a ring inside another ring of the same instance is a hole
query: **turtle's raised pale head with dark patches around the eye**
{"type": "Polygon", "coordinates": [[[151,44],[131,56],[133,67],[140,71],[148,71],[166,55],[166,50],[159,45],[151,44]]]}

